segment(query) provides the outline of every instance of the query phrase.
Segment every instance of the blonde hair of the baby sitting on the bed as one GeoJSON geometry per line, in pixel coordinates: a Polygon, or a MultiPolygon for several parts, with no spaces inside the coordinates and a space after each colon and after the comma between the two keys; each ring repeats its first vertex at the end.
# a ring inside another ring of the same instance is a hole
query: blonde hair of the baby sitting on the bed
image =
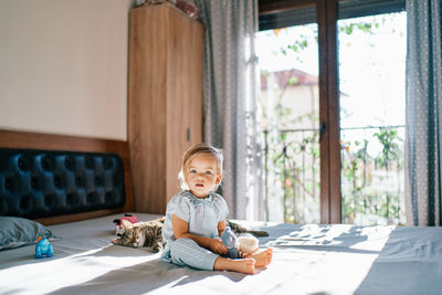
{"type": "MultiPolygon", "coordinates": [[[[180,187],[182,190],[189,189],[189,186],[187,185],[187,181],[186,181],[186,171],[189,168],[190,161],[196,156],[200,156],[200,155],[213,157],[217,160],[217,165],[218,165],[217,173],[222,175],[222,164],[224,161],[224,156],[222,155],[222,150],[219,148],[212,147],[210,145],[203,144],[203,143],[194,144],[188,150],[186,150],[185,155],[182,155],[181,167],[180,167],[180,171],[178,173],[178,179],[180,181],[180,187]]],[[[218,189],[218,186],[215,187],[215,189],[218,189]]]]}

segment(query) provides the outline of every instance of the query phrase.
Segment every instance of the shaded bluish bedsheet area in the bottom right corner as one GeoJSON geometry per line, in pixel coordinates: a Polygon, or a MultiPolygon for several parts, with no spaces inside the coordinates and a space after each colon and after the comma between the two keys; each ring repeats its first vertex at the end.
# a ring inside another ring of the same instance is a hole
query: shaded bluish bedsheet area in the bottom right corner
{"type": "Polygon", "coordinates": [[[442,228],[396,228],[356,294],[441,294],[442,228]]]}

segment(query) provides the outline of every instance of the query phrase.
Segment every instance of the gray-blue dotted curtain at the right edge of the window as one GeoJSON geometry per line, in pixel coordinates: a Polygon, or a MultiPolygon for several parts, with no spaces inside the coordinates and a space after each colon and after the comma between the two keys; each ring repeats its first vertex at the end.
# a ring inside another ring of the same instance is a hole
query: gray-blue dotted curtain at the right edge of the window
{"type": "Polygon", "coordinates": [[[407,0],[408,225],[442,225],[441,0],[407,0]]]}

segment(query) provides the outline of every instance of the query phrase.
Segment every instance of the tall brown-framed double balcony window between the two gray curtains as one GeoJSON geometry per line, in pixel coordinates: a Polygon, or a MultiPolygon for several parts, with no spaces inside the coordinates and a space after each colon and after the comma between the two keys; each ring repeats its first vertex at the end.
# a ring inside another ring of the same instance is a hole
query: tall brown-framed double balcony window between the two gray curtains
{"type": "Polygon", "coordinates": [[[404,109],[396,107],[392,116],[388,107],[392,97],[394,106],[404,101],[403,2],[260,0],[267,220],[403,221],[403,166],[398,157],[403,157],[404,109]],[[389,59],[391,50],[382,49],[382,38],[392,36],[398,42],[388,43],[396,46],[394,59],[389,59]],[[367,78],[369,72],[380,74],[377,81],[367,78]],[[397,80],[388,81],[394,75],[397,80]],[[383,108],[365,112],[380,101],[383,108]],[[366,122],[356,124],[362,117],[366,122]],[[379,186],[394,191],[370,192],[379,186]]]}

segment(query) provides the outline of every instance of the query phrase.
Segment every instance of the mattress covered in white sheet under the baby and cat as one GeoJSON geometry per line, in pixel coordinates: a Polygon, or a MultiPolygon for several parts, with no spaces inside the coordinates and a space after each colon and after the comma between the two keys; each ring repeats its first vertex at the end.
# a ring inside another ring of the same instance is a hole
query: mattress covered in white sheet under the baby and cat
{"type": "MultiPolygon", "coordinates": [[[[159,215],[136,213],[147,221],[159,215]]],[[[54,255],[0,251],[1,294],[441,294],[442,229],[238,221],[264,230],[273,262],[254,275],[198,271],[113,245],[120,214],[48,226],[54,255]]]]}

